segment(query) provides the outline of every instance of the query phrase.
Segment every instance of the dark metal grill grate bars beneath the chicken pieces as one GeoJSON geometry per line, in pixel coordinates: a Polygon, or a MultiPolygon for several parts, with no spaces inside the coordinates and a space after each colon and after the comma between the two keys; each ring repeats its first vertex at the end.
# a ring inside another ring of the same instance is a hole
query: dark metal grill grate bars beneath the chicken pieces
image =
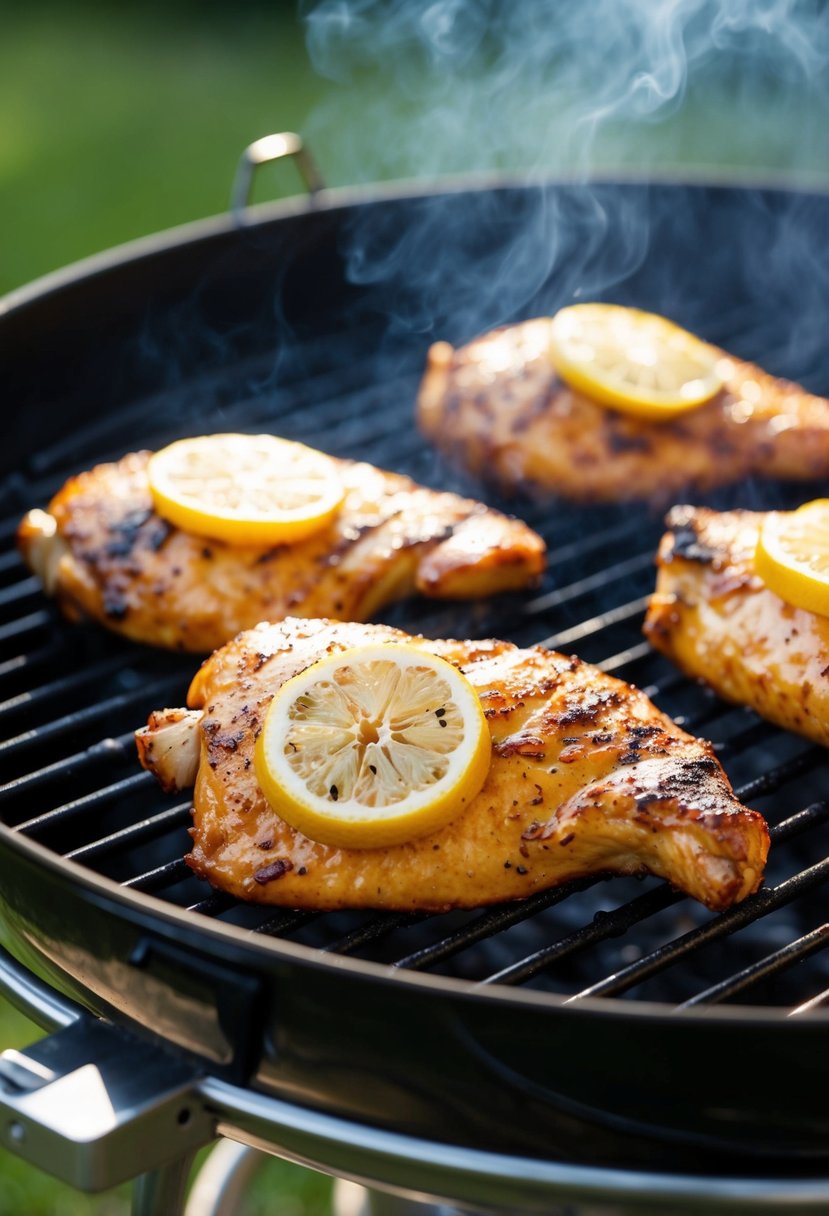
{"type": "MultiPolygon", "coordinates": [[[[608,508],[523,503],[518,510],[549,547],[549,572],[535,596],[466,607],[408,603],[385,619],[433,636],[543,642],[644,688],[686,728],[712,739],[738,796],[773,824],[768,885],[757,895],[712,916],[655,879],[592,878],[476,912],[315,914],[241,905],[192,877],[182,861],[188,804],[170,805],[137,770],[131,732],[150,709],[184,703],[197,660],[62,621],[17,558],[15,527],[64,477],[120,455],[136,432],[146,446],[158,446],[208,426],[272,429],[480,495],[480,486],[436,463],[411,424],[422,353],[401,348],[360,361],[345,358],[353,344],[353,336],[332,336],[298,347],[292,365],[278,370],[278,384],[271,366],[249,360],[186,390],[142,400],[34,454],[26,474],[10,480],[11,506],[0,525],[4,822],[126,888],[260,940],[287,938],[473,984],[531,985],[573,1002],[624,996],[681,1008],[819,1003],[829,989],[829,956],[822,953],[829,927],[818,894],[829,874],[818,839],[829,818],[823,754],[746,709],[724,705],[643,641],[661,530],[650,511],[626,510],[620,522],[608,508]],[[209,424],[204,400],[212,402],[209,424]],[[384,409],[389,401],[400,409],[384,409]],[[148,418],[164,418],[164,427],[146,426],[148,418]]],[[[785,490],[774,494],[779,505],[785,490]]]]}

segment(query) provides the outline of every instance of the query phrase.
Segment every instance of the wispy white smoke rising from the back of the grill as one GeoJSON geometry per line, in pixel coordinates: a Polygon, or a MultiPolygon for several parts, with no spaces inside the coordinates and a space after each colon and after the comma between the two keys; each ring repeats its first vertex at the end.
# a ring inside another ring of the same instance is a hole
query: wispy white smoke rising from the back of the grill
{"type": "Polygon", "coordinates": [[[779,355],[778,370],[793,373],[816,365],[829,263],[807,265],[802,201],[769,219],[758,197],[756,223],[729,236],[741,248],[721,257],[693,201],[677,214],[675,197],[643,203],[600,179],[802,181],[811,170],[829,182],[824,0],[318,0],[304,19],[311,60],[332,81],[306,126],[331,184],[436,187],[504,171],[574,184],[518,198],[508,224],[503,208],[487,213],[485,193],[469,203],[474,214],[424,203],[405,227],[382,213],[355,216],[350,275],[389,285],[393,327],[469,337],[526,309],[616,285],[624,293],[654,261],[656,230],[672,224],[695,265],[682,276],[665,269],[662,310],[704,331],[711,282],[750,281],[745,298],[777,293],[802,323],[782,340],[778,320],[772,349],[768,317],[732,316],[739,353],[769,350],[771,365],[779,355]]]}

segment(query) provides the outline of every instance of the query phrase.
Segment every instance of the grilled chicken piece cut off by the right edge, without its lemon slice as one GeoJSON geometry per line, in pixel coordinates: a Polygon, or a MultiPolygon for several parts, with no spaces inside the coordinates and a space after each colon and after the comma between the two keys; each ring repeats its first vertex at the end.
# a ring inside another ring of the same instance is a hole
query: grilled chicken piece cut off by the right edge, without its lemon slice
{"type": "Polygon", "coordinates": [[[755,574],[761,519],[673,507],[644,631],[722,697],[829,744],[829,618],[785,603],[755,574]]]}

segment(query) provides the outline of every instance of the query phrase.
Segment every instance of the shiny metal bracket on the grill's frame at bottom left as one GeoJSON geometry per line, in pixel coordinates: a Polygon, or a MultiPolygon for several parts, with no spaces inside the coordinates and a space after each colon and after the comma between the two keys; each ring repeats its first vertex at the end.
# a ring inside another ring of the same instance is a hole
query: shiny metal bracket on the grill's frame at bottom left
{"type": "Polygon", "coordinates": [[[81,1190],[105,1190],[215,1138],[180,1058],[84,1015],[0,1055],[0,1143],[81,1190]]]}

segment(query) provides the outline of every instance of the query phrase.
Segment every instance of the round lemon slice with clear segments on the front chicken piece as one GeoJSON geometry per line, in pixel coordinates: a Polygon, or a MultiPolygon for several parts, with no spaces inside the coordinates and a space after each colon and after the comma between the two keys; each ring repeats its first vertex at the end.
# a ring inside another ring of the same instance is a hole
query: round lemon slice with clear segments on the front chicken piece
{"type": "Polygon", "coordinates": [[[255,749],[259,784],[283,820],[357,849],[442,827],[479,793],[490,758],[467,677],[394,642],[340,651],[287,680],[255,749]]]}

